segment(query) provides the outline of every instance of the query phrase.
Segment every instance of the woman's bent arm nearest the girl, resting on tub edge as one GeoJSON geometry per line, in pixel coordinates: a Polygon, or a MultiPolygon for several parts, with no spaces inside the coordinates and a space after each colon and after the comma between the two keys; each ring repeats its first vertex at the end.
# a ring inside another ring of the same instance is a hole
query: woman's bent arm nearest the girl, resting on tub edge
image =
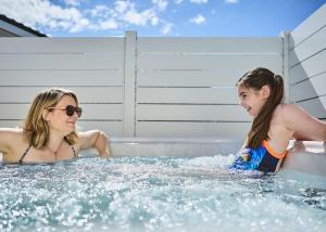
{"type": "Polygon", "coordinates": [[[82,139],[82,150],[93,147],[99,152],[101,157],[111,157],[109,138],[103,131],[90,130],[80,132],[79,136],[82,139]]]}

